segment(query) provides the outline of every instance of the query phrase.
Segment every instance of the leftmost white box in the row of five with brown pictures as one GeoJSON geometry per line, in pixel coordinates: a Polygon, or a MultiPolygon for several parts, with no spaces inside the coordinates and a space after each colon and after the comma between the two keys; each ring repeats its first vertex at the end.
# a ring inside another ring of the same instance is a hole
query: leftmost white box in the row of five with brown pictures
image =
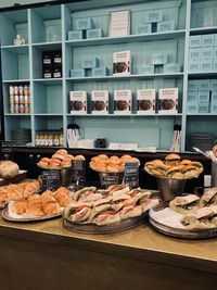
{"type": "Polygon", "coordinates": [[[87,91],[69,92],[71,114],[87,114],[87,91]]]}

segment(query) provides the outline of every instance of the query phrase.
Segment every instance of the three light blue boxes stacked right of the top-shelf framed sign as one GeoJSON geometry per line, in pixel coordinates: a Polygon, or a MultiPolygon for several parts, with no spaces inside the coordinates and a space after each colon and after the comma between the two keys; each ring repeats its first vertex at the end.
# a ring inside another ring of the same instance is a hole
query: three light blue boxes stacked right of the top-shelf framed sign
{"type": "Polygon", "coordinates": [[[175,30],[175,21],[163,21],[162,10],[151,10],[145,13],[138,34],[164,33],[175,30]]]}

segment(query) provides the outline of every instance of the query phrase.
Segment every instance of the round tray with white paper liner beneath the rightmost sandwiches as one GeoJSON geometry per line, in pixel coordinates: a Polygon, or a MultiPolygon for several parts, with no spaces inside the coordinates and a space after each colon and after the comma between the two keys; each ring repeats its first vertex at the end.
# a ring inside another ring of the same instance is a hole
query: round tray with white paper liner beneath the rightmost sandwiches
{"type": "Polygon", "coordinates": [[[166,236],[170,236],[175,238],[192,239],[192,240],[209,239],[209,238],[217,237],[217,228],[207,228],[207,229],[183,228],[183,226],[179,222],[179,218],[183,215],[174,212],[175,219],[173,220],[169,211],[168,211],[168,214],[166,213],[166,211],[163,213],[163,210],[165,209],[168,209],[168,202],[162,202],[158,205],[156,205],[154,209],[151,209],[149,212],[149,222],[156,231],[159,231],[166,236]],[[158,219],[161,212],[163,216],[162,220],[158,219]],[[169,220],[173,220],[174,224],[169,220]],[[170,226],[169,226],[169,223],[171,223],[170,226]]]}

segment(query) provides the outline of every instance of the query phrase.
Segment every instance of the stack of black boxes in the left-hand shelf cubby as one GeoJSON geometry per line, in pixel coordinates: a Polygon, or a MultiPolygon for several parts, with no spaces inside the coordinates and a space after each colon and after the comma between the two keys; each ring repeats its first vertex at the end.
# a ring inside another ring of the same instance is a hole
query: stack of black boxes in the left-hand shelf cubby
{"type": "Polygon", "coordinates": [[[62,77],[61,51],[44,51],[42,53],[42,76],[43,78],[62,77]]]}

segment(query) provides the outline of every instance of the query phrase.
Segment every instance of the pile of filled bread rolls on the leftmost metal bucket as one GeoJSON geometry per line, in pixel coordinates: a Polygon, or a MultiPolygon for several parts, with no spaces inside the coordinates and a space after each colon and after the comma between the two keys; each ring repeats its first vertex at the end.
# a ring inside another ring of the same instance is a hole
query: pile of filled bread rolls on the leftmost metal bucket
{"type": "Polygon", "coordinates": [[[38,162],[38,166],[46,169],[65,168],[71,167],[74,160],[85,160],[82,155],[72,155],[68,154],[65,149],[59,149],[52,155],[51,159],[42,157],[38,162]]]}

